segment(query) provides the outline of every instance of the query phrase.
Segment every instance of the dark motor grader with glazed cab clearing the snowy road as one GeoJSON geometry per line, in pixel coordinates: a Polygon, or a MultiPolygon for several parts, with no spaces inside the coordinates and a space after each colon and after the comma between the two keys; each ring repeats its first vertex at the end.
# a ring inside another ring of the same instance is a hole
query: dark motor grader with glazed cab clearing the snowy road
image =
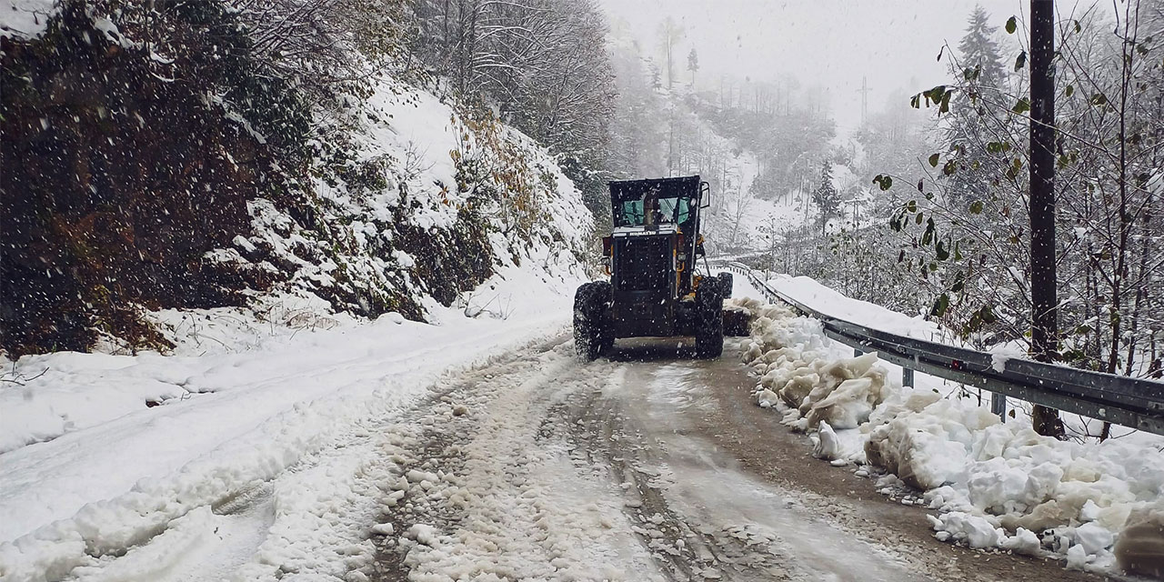
{"type": "Polygon", "coordinates": [[[574,340],[591,361],[622,338],[695,338],[697,357],[724,346],[723,303],[731,274],[704,274],[701,212],[710,189],[698,176],[610,183],[613,229],[602,240],[610,281],[582,284],[574,296],[574,340]]]}

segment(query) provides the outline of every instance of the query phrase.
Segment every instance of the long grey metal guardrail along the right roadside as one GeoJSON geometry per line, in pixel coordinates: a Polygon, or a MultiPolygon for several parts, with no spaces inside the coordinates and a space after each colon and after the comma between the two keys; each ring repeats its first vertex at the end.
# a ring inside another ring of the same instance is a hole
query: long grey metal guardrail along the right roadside
{"type": "Polygon", "coordinates": [[[1008,359],[995,369],[985,352],[907,338],[816,311],[768,286],[741,263],[721,263],[744,275],[769,301],[782,301],[821,320],[824,333],[842,343],[878,356],[903,369],[947,378],[967,386],[1042,404],[1112,424],[1164,434],[1164,383],[1064,365],[1008,359]]]}

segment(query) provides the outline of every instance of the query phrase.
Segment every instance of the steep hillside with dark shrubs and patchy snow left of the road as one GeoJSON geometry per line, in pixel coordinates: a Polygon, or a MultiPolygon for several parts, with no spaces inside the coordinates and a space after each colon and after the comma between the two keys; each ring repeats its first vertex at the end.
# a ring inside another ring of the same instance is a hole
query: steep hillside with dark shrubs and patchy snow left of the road
{"type": "Polygon", "coordinates": [[[355,77],[336,80],[285,51],[207,56],[291,17],[281,2],[151,6],[21,1],[0,14],[0,72],[24,87],[3,93],[0,118],[0,349],[164,352],[149,312],[284,296],[329,315],[424,320],[433,300],[450,306],[508,267],[580,272],[592,217],[559,154],[407,69],[406,47],[377,36],[389,8],[311,14],[325,37],[296,42],[355,77]],[[150,37],[162,21],[194,33],[150,37]],[[109,72],[95,88],[69,72],[98,65],[109,72]]]}

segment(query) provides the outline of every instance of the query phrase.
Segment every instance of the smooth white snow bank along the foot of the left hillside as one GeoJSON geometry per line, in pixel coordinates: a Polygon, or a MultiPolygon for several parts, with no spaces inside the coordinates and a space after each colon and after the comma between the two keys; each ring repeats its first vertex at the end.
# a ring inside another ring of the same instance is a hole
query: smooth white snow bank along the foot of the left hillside
{"type": "Polygon", "coordinates": [[[384,317],[246,353],[22,359],[21,369],[49,371],[0,395],[6,442],[45,431],[9,419],[66,430],[0,455],[0,579],[57,580],[161,532],[175,544],[182,532],[201,535],[192,512],[346,442],[368,419],[391,418],[441,372],[560,328],[569,296],[523,274],[483,286],[520,306],[508,319],[443,310],[439,326],[384,317]],[[142,399],[161,393],[185,396],[157,406],[142,399]]]}

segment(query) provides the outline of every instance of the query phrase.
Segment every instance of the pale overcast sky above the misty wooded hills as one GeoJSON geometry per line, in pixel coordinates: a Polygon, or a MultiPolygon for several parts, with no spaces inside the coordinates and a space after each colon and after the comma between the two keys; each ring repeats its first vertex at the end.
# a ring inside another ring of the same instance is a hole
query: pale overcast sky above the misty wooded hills
{"type": "MultiPolygon", "coordinates": [[[[1012,15],[1022,20],[1022,0],[599,0],[611,17],[658,54],[658,28],[672,15],[686,31],[676,80],[687,78],[687,54],[700,57],[697,78],[718,84],[721,72],[771,80],[790,73],[804,86],[830,93],[842,127],[860,121],[861,77],[868,78],[870,109],[895,91],[910,94],[941,84],[944,42],[957,48],[975,3],[1000,29],[1012,15]]],[[[1060,6],[1060,10],[1063,7],[1060,6]]],[[[1005,34],[1005,33],[1003,33],[1005,34]]],[[[1005,56],[1017,54],[1005,45],[1005,56]]],[[[708,87],[710,88],[710,87],[708,87]]]]}

